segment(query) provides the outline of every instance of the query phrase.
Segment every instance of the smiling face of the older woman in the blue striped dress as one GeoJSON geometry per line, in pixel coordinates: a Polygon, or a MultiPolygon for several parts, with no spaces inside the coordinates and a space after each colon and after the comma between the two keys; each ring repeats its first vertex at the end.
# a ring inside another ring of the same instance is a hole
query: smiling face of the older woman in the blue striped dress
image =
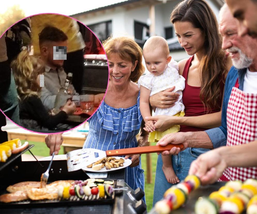
{"type": "Polygon", "coordinates": [[[116,86],[123,86],[130,82],[130,74],[134,71],[137,61],[134,63],[131,61],[123,60],[118,54],[111,54],[108,57],[110,80],[116,86]]]}

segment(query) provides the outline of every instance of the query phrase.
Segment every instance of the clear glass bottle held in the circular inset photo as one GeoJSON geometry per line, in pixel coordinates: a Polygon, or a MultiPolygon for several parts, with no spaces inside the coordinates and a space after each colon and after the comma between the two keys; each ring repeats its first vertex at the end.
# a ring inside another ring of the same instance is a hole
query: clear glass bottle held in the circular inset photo
{"type": "Polygon", "coordinates": [[[61,108],[66,104],[68,100],[72,101],[73,90],[71,87],[71,80],[72,73],[68,73],[64,82],[64,86],[62,86],[57,92],[53,113],[59,113],[62,110],[61,108]]]}

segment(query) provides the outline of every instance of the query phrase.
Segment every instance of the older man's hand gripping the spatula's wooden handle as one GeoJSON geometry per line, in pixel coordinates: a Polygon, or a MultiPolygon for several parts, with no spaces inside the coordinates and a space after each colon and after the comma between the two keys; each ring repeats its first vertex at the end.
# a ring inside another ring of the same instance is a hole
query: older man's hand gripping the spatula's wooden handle
{"type": "MultiPolygon", "coordinates": [[[[176,132],[172,134],[167,134],[164,137],[162,137],[156,145],[167,146],[169,143],[182,143],[184,145],[183,150],[185,150],[188,147],[188,143],[186,141],[186,132],[176,132]]],[[[163,151],[162,155],[177,155],[179,152],[180,148],[173,147],[170,151],[163,151]]]]}

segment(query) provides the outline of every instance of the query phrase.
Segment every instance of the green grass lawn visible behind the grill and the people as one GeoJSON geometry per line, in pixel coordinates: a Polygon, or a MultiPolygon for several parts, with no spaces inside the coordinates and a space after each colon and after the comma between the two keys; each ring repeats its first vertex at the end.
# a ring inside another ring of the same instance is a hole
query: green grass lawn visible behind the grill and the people
{"type": "MultiPolygon", "coordinates": [[[[22,143],[24,142],[25,140],[22,141],[22,143]]],[[[46,146],[45,143],[30,141],[29,144],[35,145],[30,149],[34,155],[49,156],[49,148],[46,146]]],[[[152,145],[155,145],[155,143],[153,143],[152,145]]],[[[30,152],[26,151],[25,154],[30,154],[30,152]]],[[[61,150],[59,152],[59,155],[62,155],[62,154],[64,154],[63,146],[61,146],[61,150]]],[[[152,158],[152,184],[147,184],[146,183],[146,154],[143,154],[141,156],[142,169],[145,170],[145,194],[146,194],[147,211],[150,211],[152,209],[152,204],[153,204],[154,179],[155,179],[155,169],[156,169],[156,163],[157,163],[157,154],[156,153],[151,154],[151,158],[152,158]]]]}

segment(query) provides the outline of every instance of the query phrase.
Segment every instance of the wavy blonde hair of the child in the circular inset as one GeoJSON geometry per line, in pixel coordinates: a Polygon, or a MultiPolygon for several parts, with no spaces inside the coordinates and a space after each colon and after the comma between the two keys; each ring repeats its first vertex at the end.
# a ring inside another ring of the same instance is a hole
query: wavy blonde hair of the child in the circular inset
{"type": "Polygon", "coordinates": [[[23,50],[11,64],[13,76],[17,85],[20,100],[30,96],[39,97],[41,87],[37,84],[37,76],[44,73],[44,64],[41,59],[29,55],[23,50]]]}

